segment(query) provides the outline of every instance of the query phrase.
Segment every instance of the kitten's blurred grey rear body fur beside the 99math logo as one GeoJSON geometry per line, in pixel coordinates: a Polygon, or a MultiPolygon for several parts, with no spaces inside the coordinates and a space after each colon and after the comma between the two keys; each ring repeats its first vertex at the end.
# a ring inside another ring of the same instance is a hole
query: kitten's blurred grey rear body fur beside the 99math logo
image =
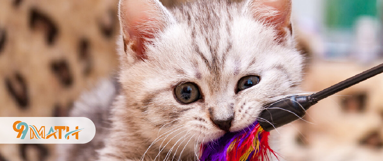
{"type": "Polygon", "coordinates": [[[84,93],[75,102],[75,108],[70,111],[69,115],[91,119],[96,126],[96,134],[91,142],[85,144],[58,145],[57,161],[94,161],[98,159],[96,150],[104,147],[103,138],[108,134],[111,126],[110,108],[116,95],[118,95],[117,82],[102,80],[95,89],[84,93]]]}

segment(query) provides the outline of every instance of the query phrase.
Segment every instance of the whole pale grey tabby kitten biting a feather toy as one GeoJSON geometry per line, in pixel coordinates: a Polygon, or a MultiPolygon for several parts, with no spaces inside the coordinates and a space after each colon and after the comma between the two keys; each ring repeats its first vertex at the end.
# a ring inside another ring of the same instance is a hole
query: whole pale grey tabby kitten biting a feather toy
{"type": "MultiPolygon", "coordinates": [[[[105,137],[96,158],[197,160],[201,143],[246,128],[273,98],[296,93],[303,57],[290,14],[291,0],[197,0],[172,10],[120,0],[121,90],[109,131],[92,140],[105,137]]],[[[88,105],[76,108],[100,113],[88,105]]]]}

